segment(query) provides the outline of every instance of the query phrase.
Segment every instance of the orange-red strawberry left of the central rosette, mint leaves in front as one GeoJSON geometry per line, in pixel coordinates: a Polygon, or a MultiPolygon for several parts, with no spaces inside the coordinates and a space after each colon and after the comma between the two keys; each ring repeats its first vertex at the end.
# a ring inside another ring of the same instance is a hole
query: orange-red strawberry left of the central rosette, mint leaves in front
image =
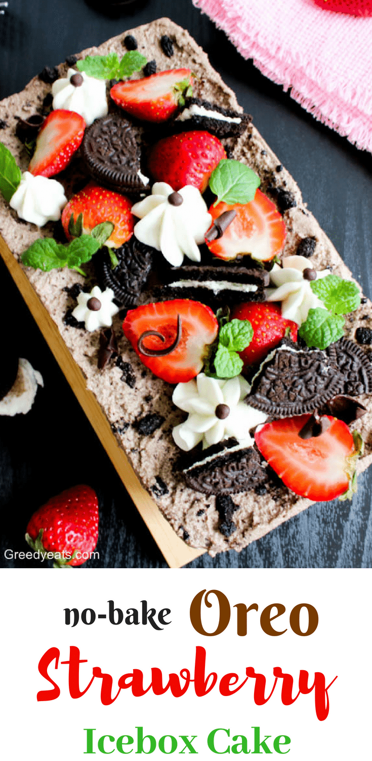
{"type": "Polygon", "coordinates": [[[69,230],[71,216],[76,222],[82,214],[82,232],[87,235],[97,224],[112,222],[115,227],[105,246],[119,248],[133,233],[134,216],[131,207],[132,202],[127,196],[121,196],[121,193],[114,193],[93,182],[88,183],[83,190],[72,196],[62,212],[61,221],[66,237],[68,240],[74,237],[69,230]]]}

